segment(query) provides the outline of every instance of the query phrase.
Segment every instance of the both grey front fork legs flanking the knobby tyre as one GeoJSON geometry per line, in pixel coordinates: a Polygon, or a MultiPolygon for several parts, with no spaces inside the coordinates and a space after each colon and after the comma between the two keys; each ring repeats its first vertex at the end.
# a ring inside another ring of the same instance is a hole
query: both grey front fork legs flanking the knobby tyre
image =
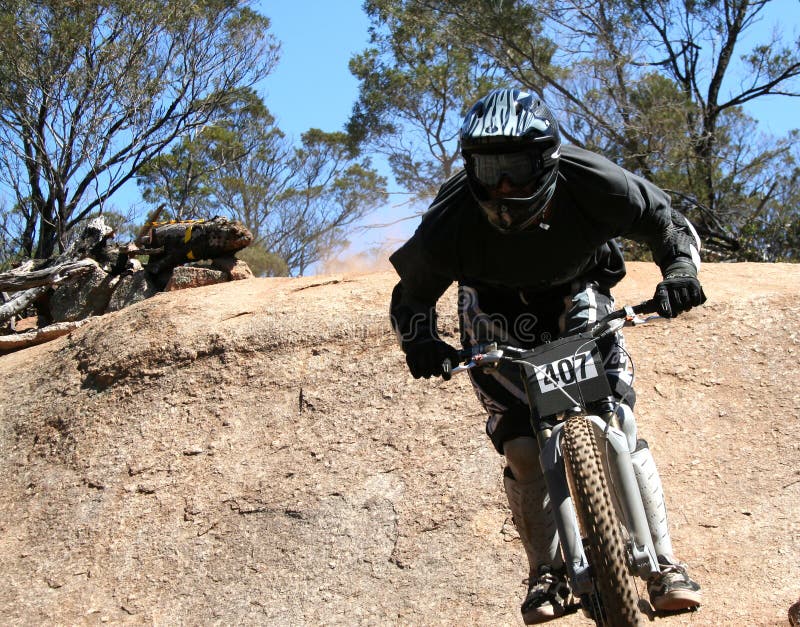
{"type": "MultiPolygon", "coordinates": [[[[586,416],[586,419],[595,427],[597,445],[611,477],[609,490],[612,500],[619,504],[621,522],[628,531],[627,548],[630,553],[629,558],[632,557],[629,568],[633,574],[649,578],[658,574],[658,560],[627,438],[620,429],[606,423],[598,416],[586,416]]],[[[563,425],[561,422],[552,431],[549,429],[540,431],[537,439],[567,574],[573,593],[580,595],[590,593],[593,586],[589,561],[583,550],[580,526],[569,491],[564,457],[561,453],[563,425]]]]}

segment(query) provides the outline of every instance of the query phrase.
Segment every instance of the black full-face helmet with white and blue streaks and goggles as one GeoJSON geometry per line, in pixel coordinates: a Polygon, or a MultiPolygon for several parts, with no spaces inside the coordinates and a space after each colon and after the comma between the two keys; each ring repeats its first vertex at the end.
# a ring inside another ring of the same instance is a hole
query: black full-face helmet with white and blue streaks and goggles
{"type": "Polygon", "coordinates": [[[553,197],[561,135],[544,102],[496,89],[476,102],[461,127],[461,154],[473,196],[504,232],[536,222],[553,197]]]}

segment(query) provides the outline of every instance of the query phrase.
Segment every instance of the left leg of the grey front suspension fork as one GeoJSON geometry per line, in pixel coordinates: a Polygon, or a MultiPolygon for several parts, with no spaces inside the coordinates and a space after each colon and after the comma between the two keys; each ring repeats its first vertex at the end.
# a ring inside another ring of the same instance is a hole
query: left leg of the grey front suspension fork
{"type": "Polygon", "coordinates": [[[537,435],[537,438],[540,438],[541,453],[539,457],[547,484],[547,492],[550,495],[553,517],[556,520],[564,564],[567,567],[573,593],[581,595],[592,591],[592,575],[589,569],[589,560],[583,551],[578,515],[572,504],[564,457],[561,454],[563,424],[556,425],[549,437],[545,435],[545,432],[540,432],[541,436],[537,435]]]}

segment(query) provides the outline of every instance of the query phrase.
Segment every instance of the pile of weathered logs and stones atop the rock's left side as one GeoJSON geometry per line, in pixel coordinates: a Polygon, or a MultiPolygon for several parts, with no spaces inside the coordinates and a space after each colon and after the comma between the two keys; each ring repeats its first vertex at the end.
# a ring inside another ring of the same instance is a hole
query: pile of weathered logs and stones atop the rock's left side
{"type": "MultiPolygon", "coordinates": [[[[163,207],[153,212],[136,239],[128,244],[109,244],[107,240],[113,237],[114,232],[100,216],[90,220],[79,237],[57,257],[28,260],[18,268],[0,274],[0,294],[3,294],[0,299],[0,333],[13,332],[15,318],[24,315],[25,310],[33,305],[36,306],[38,322],[43,325],[101,314],[111,306],[118,284],[125,284],[125,293],[121,293],[114,303],[117,309],[125,306],[125,294],[128,294],[127,298],[146,298],[168,285],[175,289],[176,286],[190,287],[208,280],[208,277],[202,281],[193,277],[181,282],[183,274],[209,274],[220,270],[224,273],[224,280],[245,278],[248,274],[252,276],[246,266],[247,272],[244,272],[241,264],[233,258],[234,252],[253,241],[253,235],[244,225],[222,217],[157,222],[162,210],[163,207]],[[136,274],[134,265],[142,268],[136,258],[143,256],[148,257],[142,272],[144,277],[138,281],[129,279],[136,274]],[[223,268],[188,268],[173,277],[175,269],[187,262],[223,258],[223,268]],[[6,292],[9,292],[8,296],[6,292]]],[[[214,282],[219,280],[221,278],[216,276],[214,282]]],[[[47,341],[42,338],[50,337],[49,334],[57,333],[58,329],[57,325],[50,325],[42,329],[42,335],[27,334],[24,338],[21,334],[11,335],[3,340],[0,352],[13,350],[9,348],[12,345],[24,347],[47,341]]]]}

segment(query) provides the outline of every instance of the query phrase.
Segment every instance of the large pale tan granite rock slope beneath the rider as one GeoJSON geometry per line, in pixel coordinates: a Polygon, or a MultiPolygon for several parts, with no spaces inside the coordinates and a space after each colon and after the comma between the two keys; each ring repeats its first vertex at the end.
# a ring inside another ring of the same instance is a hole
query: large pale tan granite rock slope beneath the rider
{"type": "MultiPolygon", "coordinates": [[[[630,264],[617,301],[657,278],[630,264]]],[[[800,266],[708,264],[703,281],[704,307],[626,332],[640,434],[705,595],[654,624],[786,625],[800,266]]],[[[161,293],[0,357],[3,623],[521,625],[503,459],[466,377],[407,373],[394,282],[161,293]]],[[[452,291],[440,313],[455,342],[452,291]]]]}

